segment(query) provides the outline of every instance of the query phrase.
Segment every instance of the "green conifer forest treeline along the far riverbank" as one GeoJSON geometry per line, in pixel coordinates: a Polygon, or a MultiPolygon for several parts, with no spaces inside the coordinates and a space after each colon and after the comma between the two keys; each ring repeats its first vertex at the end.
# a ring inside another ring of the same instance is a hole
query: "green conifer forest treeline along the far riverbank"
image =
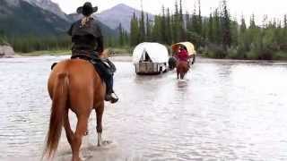
{"type": "MultiPolygon", "coordinates": [[[[269,19],[265,15],[260,25],[255,15],[246,21],[244,15],[237,20],[230,14],[228,1],[222,0],[209,16],[201,13],[200,0],[192,13],[183,13],[182,0],[176,0],[174,12],[161,8],[161,14],[149,17],[144,14],[130,21],[130,32],[118,25],[118,37],[106,37],[106,47],[132,49],[143,41],[160,42],[166,46],[190,41],[196,51],[213,58],[287,60],[287,15],[282,19],[269,19]]],[[[0,43],[8,42],[18,52],[35,50],[69,49],[67,36],[50,38],[7,38],[0,31],[0,43]]]]}

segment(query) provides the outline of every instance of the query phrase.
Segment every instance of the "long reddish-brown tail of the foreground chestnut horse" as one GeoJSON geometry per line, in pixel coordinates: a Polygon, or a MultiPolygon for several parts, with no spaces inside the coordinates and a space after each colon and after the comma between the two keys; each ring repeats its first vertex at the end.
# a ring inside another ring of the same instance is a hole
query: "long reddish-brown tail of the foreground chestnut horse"
{"type": "Polygon", "coordinates": [[[59,73],[57,75],[56,84],[53,89],[53,102],[48,128],[48,139],[45,148],[45,154],[48,154],[48,157],[51,157],[55,154],[58,142],[61,137],[66,102],[68,99],[68,85],[68,74],[65,72],[59,73]]]}

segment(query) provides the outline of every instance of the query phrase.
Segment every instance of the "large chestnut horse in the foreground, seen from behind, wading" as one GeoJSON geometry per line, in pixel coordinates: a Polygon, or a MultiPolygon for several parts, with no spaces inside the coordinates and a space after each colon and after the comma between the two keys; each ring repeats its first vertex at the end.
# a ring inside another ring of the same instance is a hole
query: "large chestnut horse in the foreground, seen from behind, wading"
{"type": "MultiPolygon", "coordinates": [[[[102,55],[107,56],[105,51],[102,55]]],[[[60,140],[62,127],[73,152],[73,161],[80,160],[83,135],[87,131],[91,111],[97,114],[98,146],[101,145],[102,114],[106,85],[93,65],[83,59],[69,59],[58,63],[48,79],[48,93],[52,99],[50,123],[45,154],[53,157],[60,140]],[[69,110],[77,117],[75,131],[69,123],[69,110]]]]}

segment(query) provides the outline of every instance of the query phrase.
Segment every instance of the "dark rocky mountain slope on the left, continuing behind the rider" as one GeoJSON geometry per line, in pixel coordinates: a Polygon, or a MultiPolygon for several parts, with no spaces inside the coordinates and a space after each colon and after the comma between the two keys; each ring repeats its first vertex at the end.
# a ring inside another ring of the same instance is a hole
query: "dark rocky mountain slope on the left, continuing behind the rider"
{"type": "MultiPolygon", "coordinates": [[[[0,4],[0,34],[7,36],[57,36],[65,34],[75,20],[50,0],[0,0],[0,4]],[[45,3],[48,9],[39,7],[45,3]]],[[[116,30],[99,23],[103,35],[117,35],[116,30]]]]}

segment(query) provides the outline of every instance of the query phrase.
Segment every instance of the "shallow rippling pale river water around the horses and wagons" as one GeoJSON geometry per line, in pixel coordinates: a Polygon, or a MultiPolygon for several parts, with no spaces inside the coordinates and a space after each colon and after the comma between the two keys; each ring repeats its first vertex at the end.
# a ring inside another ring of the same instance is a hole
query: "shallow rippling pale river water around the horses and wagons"
{"type": "MultiPolygon", "coordinates": [[[[0,160],[40,160],[49,68],[64,58],[0,60],[0,160]]],[[[113,143],[95,146],[92,114],[86,160],[287,160],[287,64],[198,59],[180,81],[175,72],[137,76],[132,63],[116,65],[120,101],[103,117],[103,138],[113,143]]],[[[62,133],[55,160],[71,155],[62,133]]]]}

